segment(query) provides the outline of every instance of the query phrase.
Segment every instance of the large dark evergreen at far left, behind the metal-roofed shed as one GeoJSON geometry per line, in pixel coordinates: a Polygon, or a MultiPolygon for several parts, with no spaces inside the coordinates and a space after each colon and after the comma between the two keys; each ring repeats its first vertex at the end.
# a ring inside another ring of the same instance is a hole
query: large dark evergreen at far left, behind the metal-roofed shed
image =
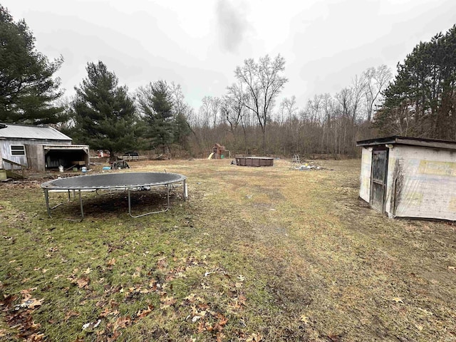
{"type": "Polygon", "coordinates": [[[14,22],[0,5],[0,122],[48,124],[66,120],[60,81],[53,78],[63,58],[48,61],[36,51],[35,38],[24,20],[14,22]]]}

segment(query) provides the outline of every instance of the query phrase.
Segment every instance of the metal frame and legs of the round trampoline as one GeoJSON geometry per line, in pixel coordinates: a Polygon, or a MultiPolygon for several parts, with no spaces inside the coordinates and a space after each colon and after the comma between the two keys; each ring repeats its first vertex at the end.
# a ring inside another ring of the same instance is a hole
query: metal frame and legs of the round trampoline
{"type": "MultiPolygon", "coordinates": [[[[53,207],[50,207],[50,205],[49,205],[49,191],[50,190],[68,191],[68,202],[71,202],[71,191],[73,191],[73,198],[76,197],[76,191],[78,192],[79,205],[81,208],[81,219],[69,219],[69,220],[75,221],[75,222],[82,222],[84,219],[83,199],[81,196],[81,191],[83,191],[83,190],[95,191],[97,193],[97,195],[100,195],[100,194],[98,194],[98,190],[109,190],[109,191],[110,190],[123,190],[123,191],[126,190],[127,194],[128,194],[128,214],[130,215],[130,217],[133,217],[133,218],[143,217],[143,216],[147,216],[150,214],[159,214],[161,212],[167,212],[170,209],[170,187],[174,188],[175,183],[182,182],[184,200],[186,200],[188,197],[187,196],[187,182],[186,182],[187,177],[185,177],[184,175],[180,175],[177,173],[170,173],[170,172],[125,172],[123,175],[131,175],[131,178],[134,179],[135,175],[138,175],[138,174],[141,174],[141,175],[145,175],[145,174],[147,174],[147,175],[173,175],[173,176],[177,176],[177,177],[175,177],[175,179],[173,179],[173,180],[166,180],[166,181],[162,181],[162,182],[141,182],[140,184],[133,184],[133,185],[132,184],[123,184],[123,185],[115,184],[115,185],[65,186],[65,185],[55,185],[53,183],[58,182],[58,181],[61,182],[61,180],[65,180],[66,178],[51,180],[49,182],[45,182],[45,183],[41,184],[41,188],[43,189],[43,192],[44,192],[44,199],[46,201],[46,210],[48,212],[48,217],[50,217],[50,218],[52,217],[51,216],[52,209],[55,209],[56,207],[60,207],[62,204],[65,204],[64,202],[62,202],[62,203],[56,204],[53,207]],[[166,188],[167,202],[166,202],[165,209],[157,210],[157,211],[153,211],[153,212],[146,212],[146,213],[139,214],[139,215],[133,215],[132,210],[131,210],[131,191],[139,190],[140,188],[143,188],[143,187],[152,188],[152,187],[160,187],[160,186],[164,186],[166,188]]],[[[70,177],[70,178],[68,178],[68,180],[74,180],[75,178],[79,178],[79,177],[81,177],[80,180],[83,180],[82,177],[84,177],[85,179],[87,179],[88,177],[93,177],[93,176],[109,177],[110,175],[113,175],[113,174],[108,173],[108,174],[98,174],[98,175],[82,175],[82,176],[70,177]]],[[[118,175],[118,174],[115,174],[115,175],[118,175]]]]}

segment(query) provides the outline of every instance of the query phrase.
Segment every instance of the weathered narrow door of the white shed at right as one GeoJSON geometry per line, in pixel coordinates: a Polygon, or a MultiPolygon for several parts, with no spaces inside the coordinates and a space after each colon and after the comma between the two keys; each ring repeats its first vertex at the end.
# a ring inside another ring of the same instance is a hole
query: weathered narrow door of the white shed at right
{"type": "Polygon", "coordinates": [[[371,170],[371,207],[385,212],[388,150],[373,150],[371,170]]]}

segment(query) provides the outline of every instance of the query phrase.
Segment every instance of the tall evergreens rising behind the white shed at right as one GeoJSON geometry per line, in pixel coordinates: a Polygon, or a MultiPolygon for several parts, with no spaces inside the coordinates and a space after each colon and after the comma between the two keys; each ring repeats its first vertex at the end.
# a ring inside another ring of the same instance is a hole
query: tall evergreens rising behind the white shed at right
{"type": "Polygon", "coordinates": [[[380,132],[456,140],[456,25],[415,46],[383,95],[380,132]]]}

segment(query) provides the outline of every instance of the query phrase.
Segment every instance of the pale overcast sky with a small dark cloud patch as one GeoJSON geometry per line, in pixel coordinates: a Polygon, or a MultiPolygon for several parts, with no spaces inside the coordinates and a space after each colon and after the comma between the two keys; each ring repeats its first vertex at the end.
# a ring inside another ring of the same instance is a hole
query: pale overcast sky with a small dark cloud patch
{"type": "Polygon", "coordinates": [[[196,110],[222,96],[244,59],[281,54],[281,97],[300,107],[366,68],[393,72],[420,41],[456,24],[455,0],[0,0],[25,19],[38,51],[63,56],[66,95],[103,61],[133,91],[174,81],[196,110]]]}

